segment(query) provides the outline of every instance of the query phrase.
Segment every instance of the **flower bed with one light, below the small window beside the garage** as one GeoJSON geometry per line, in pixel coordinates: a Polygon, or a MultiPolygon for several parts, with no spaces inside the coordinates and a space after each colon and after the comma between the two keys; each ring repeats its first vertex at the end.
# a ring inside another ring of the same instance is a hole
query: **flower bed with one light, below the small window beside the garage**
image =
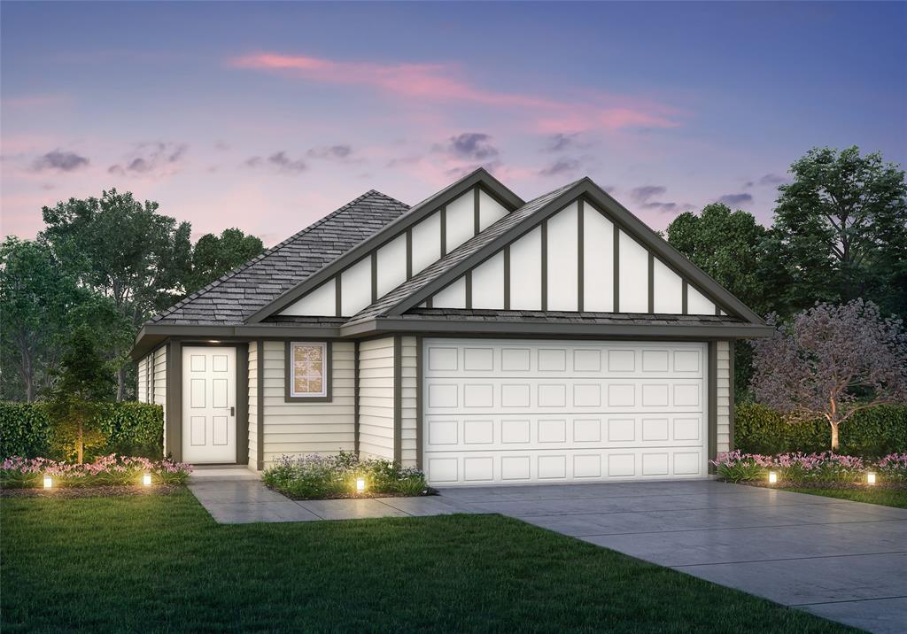
{"type": "Polygon", "coordinates": [[[262,473],[262,480],[296,500],[434,494],[418,469],[388,460],[359,460],[348,452],[281,456],[262,473]]]}

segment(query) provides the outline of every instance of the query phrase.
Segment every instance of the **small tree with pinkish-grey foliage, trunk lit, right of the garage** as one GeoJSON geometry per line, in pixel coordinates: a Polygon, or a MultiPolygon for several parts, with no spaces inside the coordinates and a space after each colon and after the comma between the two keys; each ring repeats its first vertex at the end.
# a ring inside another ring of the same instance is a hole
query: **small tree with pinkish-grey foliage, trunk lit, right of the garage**
{"type": "Polygon", "coordinates": [[[757,339],[756,398],[789,423],[828,421],[832,450],[838,428],[855,412],[907,401],[907,334],[902,321],[883,318],[872,302],[817,304],[772,337],[757,339]]]}

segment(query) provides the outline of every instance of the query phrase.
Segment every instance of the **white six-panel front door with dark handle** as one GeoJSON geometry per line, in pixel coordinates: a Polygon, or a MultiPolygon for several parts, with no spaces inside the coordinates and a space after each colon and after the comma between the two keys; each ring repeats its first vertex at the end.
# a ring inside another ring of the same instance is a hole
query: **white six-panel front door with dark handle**
{"type": "Polygon", "coordinates": [[[182,459],[236,463],[236,348],[182,348],[182,459]]]}

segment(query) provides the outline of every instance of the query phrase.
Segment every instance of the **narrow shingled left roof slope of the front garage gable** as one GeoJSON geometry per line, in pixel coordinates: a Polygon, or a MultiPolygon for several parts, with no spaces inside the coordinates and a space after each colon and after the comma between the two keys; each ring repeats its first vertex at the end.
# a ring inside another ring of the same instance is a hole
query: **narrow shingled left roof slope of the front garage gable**
{"type": "Polygon", "coordinates": [[[491,227],[483,230],[482,233],[463,242],[462,245],[453,249],[453,251],[444,256],[444,258],[439,259],[433,265],[425,268],[422,272],[415,275],[413,278],[410,278],[384,297],[379,298],[371,306],[363,308],[358,314],[350,318],[349,323],[355,323],[357,321],[384,315],[388,310],[402,302],[406,297],[411,296],[426,284],[429,284],[434,281],[434,279],[443,275],[444,272],[455,267],[464,259],[469,258],[473,253],[479,251],[485,245],[504,234],[508,229],[512,229],[523,220],[528,219],[533,213],[541,210],[542,207],[551,202],[551,200],[558,198],[565,191],[570,190],[579,183],[580,180],[571,182],[570,184],[564,185],[557,190],[550,191],[547,194],[542,194],[538,198],[527,202],[520,209],[507,214],[502,219],[495,222],[491,227]]]}

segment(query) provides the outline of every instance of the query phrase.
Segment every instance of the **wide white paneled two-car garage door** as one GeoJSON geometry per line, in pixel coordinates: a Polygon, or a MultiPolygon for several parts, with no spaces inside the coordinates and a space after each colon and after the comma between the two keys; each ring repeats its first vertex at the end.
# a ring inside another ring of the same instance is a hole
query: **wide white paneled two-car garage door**
{"type": "Polygon", "coordinates": [[[425,339],[435,486],[707,473],[706,345],[425,339]]]}

